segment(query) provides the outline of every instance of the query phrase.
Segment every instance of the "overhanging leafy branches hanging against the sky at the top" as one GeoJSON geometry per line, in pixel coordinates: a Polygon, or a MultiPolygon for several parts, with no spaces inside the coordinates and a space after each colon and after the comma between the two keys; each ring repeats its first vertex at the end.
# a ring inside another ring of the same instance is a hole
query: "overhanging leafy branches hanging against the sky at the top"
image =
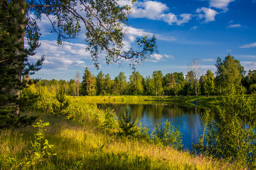
{"type": "MultiPolygon", "coordinates": [[[[25,1],[25,0],[23,0],[25,1]]],[[[135,0],[131,1],[132,3],[135,0]]],[[[139,50],[123,50],[123,37],[127,26],[127,15],[131,13],[128,5],[120,6],[112,0],[27,0],[28,16],[41,19],[46,15],[51,21],[57,42],[61,45],[65,39],[74,39],[80,31],[85,31],[86,44],[94,65],[98,68],[98,54],[105,50],[106,63],[121,63],[130,59],[131,66],[139,65],[156,50],[155,37],[138,38],[139,50]]]]}

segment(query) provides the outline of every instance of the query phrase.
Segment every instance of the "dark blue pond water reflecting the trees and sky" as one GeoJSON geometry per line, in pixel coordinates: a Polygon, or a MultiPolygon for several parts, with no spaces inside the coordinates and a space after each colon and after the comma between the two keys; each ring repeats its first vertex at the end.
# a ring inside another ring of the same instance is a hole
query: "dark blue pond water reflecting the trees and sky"
{"type": "MultiPolygon", "coordinates": [[[[101,109],[112,108],[117,112],[117,116],[121,115],[122,109],[126,104],[117,103],[101,103],[97,104],[101,109]]],[[[166,120],[171,122],[175,128],[180,127],[183,133],[184,148],[191,150],[192,143],[199,141],[200,135],[203,133],[203,125],[201,124],[201,113],[205,112],[204,108],[191,107],[185,105],[172,104],[128,104],[134,118],[138,118],[142,122],[142,126],[148,126],[150,133],[156,124],[164,124],[166,120]]],[[[212,115],[214,117],[214,115],[212,115]]]]}

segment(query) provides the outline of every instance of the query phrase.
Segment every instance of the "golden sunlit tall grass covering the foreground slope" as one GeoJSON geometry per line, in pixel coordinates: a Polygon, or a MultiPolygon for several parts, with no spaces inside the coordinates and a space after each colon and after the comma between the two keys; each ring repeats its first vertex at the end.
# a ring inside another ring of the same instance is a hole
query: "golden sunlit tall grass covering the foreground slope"
{"type": "Polygon", "coordinates": [[[50,123],[45,138],[54,145],[50,151],[56,156],[28,163],[37,129],[1,130],[0,169],[239,169],[236,164],[161,148],[143,139],[109,135],[94,128],[92,122],[29,114],[38,114],[38,120],[50,123]]]}

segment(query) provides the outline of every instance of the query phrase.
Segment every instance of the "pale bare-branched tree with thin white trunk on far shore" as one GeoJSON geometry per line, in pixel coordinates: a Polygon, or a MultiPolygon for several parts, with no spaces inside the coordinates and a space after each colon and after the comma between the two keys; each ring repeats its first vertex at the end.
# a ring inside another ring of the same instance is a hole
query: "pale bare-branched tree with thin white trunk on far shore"
{"type": "Polygon", "coordinates": [[[189,70],[192,71],[192,75],[194,78],[194,84],[195,84],[195,95],[197,96],[197,80],[200,78],[201,74],[201,67],[200,67],[200,60],[198,59],[191,59],[191,63],[189,63],[189,70]]]}

